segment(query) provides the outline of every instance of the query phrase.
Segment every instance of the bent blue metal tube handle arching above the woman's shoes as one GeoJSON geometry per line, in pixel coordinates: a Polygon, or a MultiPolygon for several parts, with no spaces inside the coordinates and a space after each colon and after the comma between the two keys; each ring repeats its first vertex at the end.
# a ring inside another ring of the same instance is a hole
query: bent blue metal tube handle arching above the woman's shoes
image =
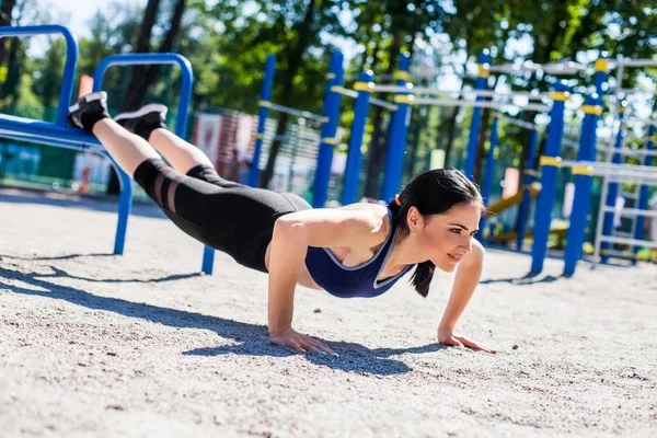
{"type": "Polygon", "coordinates": [[[194,73],[192,71],[192,65],[184,56],[178,54],[111,55],[103,59],[93,72],[93,91],[101,91],[103,89],[103,77],[105,76],[105,71],[107,71],[107,69],[112,66],[135,66],[153,64],[177,64],[181,68],[183,83],[177,108],[175,134],[181,138],[185,138],[187,130],[187,114],[189,111],[189,103],[192,102],[192,87],[194,84],[194,73]]]}

